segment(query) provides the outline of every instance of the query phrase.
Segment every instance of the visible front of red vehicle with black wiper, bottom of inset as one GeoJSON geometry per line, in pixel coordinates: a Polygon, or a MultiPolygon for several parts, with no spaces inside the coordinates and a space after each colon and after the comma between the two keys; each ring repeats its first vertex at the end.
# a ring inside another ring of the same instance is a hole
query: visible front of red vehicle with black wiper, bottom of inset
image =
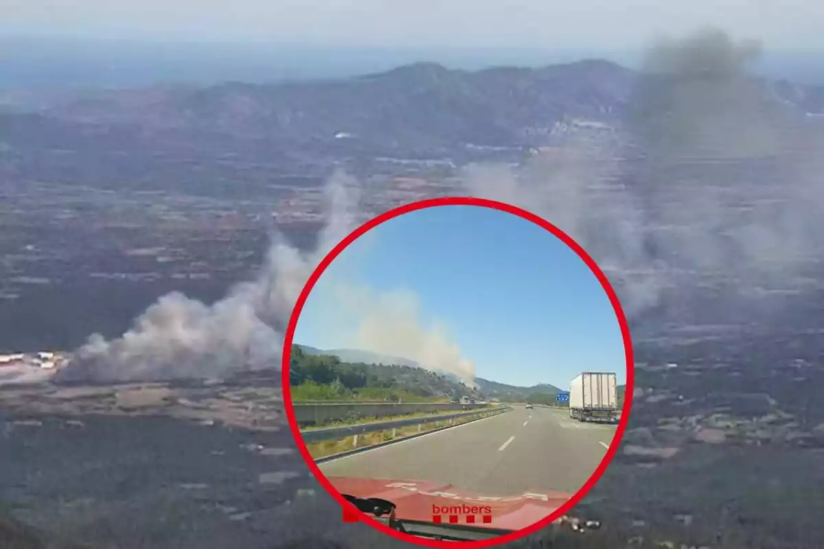
{"type": "Polygon", "coordinates": [[[566,492],[525,491],[495,497],[439,482],[327,478],[354,506],[353,513],[367,514],[414,537],[456,542],[517,532],[545,519],[572,496],[566,492]]]}

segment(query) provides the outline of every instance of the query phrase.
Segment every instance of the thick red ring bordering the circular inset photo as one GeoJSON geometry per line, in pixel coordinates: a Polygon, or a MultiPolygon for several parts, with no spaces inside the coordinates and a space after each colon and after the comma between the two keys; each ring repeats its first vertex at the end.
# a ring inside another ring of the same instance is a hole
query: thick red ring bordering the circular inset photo
{"type": "Polygon", "coordinates": [[[306,461],[307,465],[309,466],[311,472],[315,475],[318,482],[321,483],[321,486],[325,488],[329,494],[335,498],[335,500],[341,505],[341,508],[351,509],[353,514],[358,514],[357,516],[361,516],[363,522],[368,523],[372,528],[379,530],[382,533],[386,533],[391,537],[395,537],[396,539],[400,539],[401,541],[410,542],[416,545],[424,546],[424,547],[467,547],[475,549],[480,547],[494,547],[503,543],[514,542],[522,537],[526,537],[530,534],[536,533],[542,528],[546,528],[556,519],[559,519],[561,516],[569,512],[570,509],[573,509],[576,504],[580,500],[583,499],[585,495],[587,495],[588,491],[592,490],[592,488],[597,484],[598,480],[606,471],[606,468],[609,467],[612,459],[615,457],[615,454],[618,450],[618,446],[620,445],[620,440],[624,436],[624,431],[626,430],[627,421],[630,419],[630,409],[632,407],[632,394],[633,394],[633,385],[634,385],[634,359],[633,359],[633,351],[632,351],[632,341],[630,339],[630,328],[627,324],[624,310],[620,306],[620,301],[618,300],[618,296],[616,292],[612,289],[610,282],[606,279],[606,275],[602,272],[600,268],[598,268],[595,261],[589,257],[584,249],[578,245],[569,235],[564,233],[563,230],[560,230],[558,227],[552,225],[549,221],[545,221],[540,216],[536,216],[531,212],[527,212],[526,210],[522,210],[519,207],[513,206],[511,204],[507,204],[505,202],[498,202],[495,200],[488,200],[486,198],[475,198],[475,197],[445,197],[445,198],[429,198],[427,200],[421,200],[419,202],[410,202],[400,207],[396,207],[388,212],[384,212],[381,215],[372,218],[371,220],[364,223],[362,226],[359,226],[357,229],[353,230],[344,240],[341,240],[335,248],[333,248],[329,254],[323,258],[321,263],[315,268],[315,270],[311,273],[306,286],[303,286],[303,290],[301,291],[301,295],[298,296],[297,302],[295,303],[295,307],[292,311],[292,316],[289,318],[288,328],[286,330],[286,335],[283,337],[283,362],[282,362],[282,376],[283,376],[283,408],[286,411],[286,415],[289,421],[289,428],[292,430],[292,435],[294,436],[295,443],[297,444],[297,448],[300,450],[303,459],[306,461]],[[548,230],[550,233],[558,237],[560,240],[564,241],[564,244],[567,244],[569,248],[573,249],[578,257],[583,259],[584,263],[587,263],[587,266],[590,268],[593,274],[597,277],[598,281],[601,282],[601,286],[603,287],[604,291],[606,291],[606,295],[609,296],[610,302],[612,304],[612,308],[615,309],[616,317],[618,318],[618,323],[620,324],[621,335],[624,339],[624,349],[625,349],[625,356],[626,356],[626,389],[625,389],[625,398],[624,398],[624,408],[621,411],[620,421],[618,428],[616,430],[616,434],[612,438],[612,442],[610,444],[609,449],[606,450],[606,456],[602,459],[601,463],[598,464],[595,472],[592,473],[592,476],[589,477],[588,481],[577,491],[575,494],[567,500],[564,505],[561,505],[559,509],[555,509],[555,512],[547,516],[545,519],[540,520],[527,528],[522,528],[521,530],[517,530],[516,532],[504,534],[503,536],[493,537],[486,540],[478,540],[473,542],[444,542],[438,541],[433,539],[428,539],[425,537],[414,537],[409,534],[400,533],[392,528],[389,528],[385,524],[377,522],[377,520],[369,517],[367,514],[363,514],[358,509],[355,508],[354,505],[349,503],[349,501],[345,500],[340,492],[335,489],[335,486],[326,479],[324,474],[321,472],[321,469],[318,468],[317,464],[315,463],[314,458],[311,457],[309,454],[309,450],[307,449],[306,444],[303,442],[303,437],[301,435],[301,431],[297,426],[297,421],[295,419],[295,412],[292,404],[292,391],[289,385],[289,365],[292,356],[292,342],[295,335],[295,327],[297,326],[297,319],[300,317],[301,311],[303,309],[303,305],[306,303],[307,297],[312,291],[312,288],[315,287],[316,282],[321,277],[321,274],[330,266],[335,258],[346,249],[349,244],[352,244],[355,240],[358,240],[362,235],[367,233],[369,230],[374,229],[375,227],[381,225],[385,221],[391,220],[393,217],[402,216],[405,213],[416,212],[418,210],[423,210],[428,207],[437,207],[437,206],[478,206],[478,207],[488,207],[494,210],[498,210],[499,212],[507,212],[511,213],[515,216],[522,217],[527,221],[531,221],[538,226],[543,227],[545,230],[548,230]],[[627,397],[626,395],[629,395],[627,397]]]}

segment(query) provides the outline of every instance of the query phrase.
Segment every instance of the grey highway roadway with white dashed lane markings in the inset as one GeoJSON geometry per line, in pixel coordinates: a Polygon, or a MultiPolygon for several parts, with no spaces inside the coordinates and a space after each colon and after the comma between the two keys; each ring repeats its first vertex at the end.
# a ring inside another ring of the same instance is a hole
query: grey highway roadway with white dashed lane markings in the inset
{"type": "Polygon", "coordinates": [[[320,464],[328,477],[444,482],[482,495],[574,493],[595,472],[616,426],[579,423],[569,411],[513,411],[320,464]]]}

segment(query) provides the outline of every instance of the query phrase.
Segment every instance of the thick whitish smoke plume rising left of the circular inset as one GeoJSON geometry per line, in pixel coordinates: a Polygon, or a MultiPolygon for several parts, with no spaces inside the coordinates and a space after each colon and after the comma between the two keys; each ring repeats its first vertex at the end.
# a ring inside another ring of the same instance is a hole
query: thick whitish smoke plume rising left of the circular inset
{"type": "MultiPolygon", "coordinates": [[[[179,292],[162,296],[121,337],[92,335],[57,381],[208,378],[235,370],[279,368],[283,330],[302,287],[321,259],[354,229],[357,197],[345,174],[325,188],[327,225],[310,253],[279,235],[257,277],[205,305],[179,292]]],[[[356,193],[355,193],[356,194],[356,193]]]]}

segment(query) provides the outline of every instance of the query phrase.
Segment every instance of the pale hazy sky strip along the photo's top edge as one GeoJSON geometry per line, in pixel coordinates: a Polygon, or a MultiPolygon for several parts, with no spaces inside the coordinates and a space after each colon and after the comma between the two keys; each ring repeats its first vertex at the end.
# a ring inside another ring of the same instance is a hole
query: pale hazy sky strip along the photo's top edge
{"type": "Polygon", "coordinates": [[[0,32],[368,46],[626,49],[714,25],[771,49],[822,49],[814,0],[0,0],[0,32]]]}

